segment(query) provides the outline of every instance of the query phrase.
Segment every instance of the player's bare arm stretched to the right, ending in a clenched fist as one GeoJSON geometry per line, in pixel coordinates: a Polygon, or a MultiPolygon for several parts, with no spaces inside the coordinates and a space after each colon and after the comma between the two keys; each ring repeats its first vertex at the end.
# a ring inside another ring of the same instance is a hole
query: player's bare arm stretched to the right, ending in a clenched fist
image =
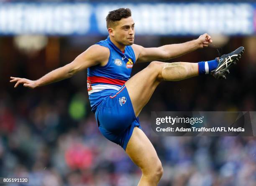
{"type": "Polygon", "coordinates": [[[205,33],[200,35],[196,40],[188,41],[186,43],[164,45],[158,48],[144,48],[140,45],[132,45],[132,47],[136,53],[136,59],[138,62],[148,62],[177,58],[181,55],[197,50],[198,48],[207,47],[210,43],[212,43],[211,37],[205,33]]]}

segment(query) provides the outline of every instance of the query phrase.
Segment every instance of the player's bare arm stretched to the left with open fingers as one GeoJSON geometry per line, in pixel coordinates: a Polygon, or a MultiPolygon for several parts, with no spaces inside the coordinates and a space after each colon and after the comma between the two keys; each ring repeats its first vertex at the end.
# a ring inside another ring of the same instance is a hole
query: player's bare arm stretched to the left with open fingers
{"type": "Polygon", "coordinates": [[[10,82],[15,83],[15,88],[19,84],[23,84],[23,86],[33,89],[66,78],[70,78],[74,74],[90,66],[102,65],[102,61],[108,59],[109,55],[110,54],[108,48],[102,47],[100,45],[92,45],[86,51],[78,55],[77,58],[75,58],[71,63],[47,73],[38,80],[10,77],[12,79],[10,82]],[[99,52],[101,55],[99,55],[99,52]]]}

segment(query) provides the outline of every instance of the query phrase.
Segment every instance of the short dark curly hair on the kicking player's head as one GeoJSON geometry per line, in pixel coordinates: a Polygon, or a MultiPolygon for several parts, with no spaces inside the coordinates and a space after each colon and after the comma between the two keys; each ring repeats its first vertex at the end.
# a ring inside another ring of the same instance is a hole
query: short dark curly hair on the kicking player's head
{"type": "Polygon", "coordinates": [[[120,21],[122,18],[131,17],[131,10],[129,8],[119,8],[117,10],[110,11],[107,15],[107,28],[115,26],[116,21],[120,21]]]}

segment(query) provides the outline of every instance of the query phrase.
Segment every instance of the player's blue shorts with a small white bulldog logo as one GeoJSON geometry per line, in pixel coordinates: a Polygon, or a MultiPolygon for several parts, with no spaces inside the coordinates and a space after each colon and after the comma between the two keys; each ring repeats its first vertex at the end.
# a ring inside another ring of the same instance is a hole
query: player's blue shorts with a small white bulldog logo
{"type": "Polygon", "coordinates": [[[141,128],[125,85],[102,101],[95,112],[95,118],[100,133],[124,150],[131,138],[133,128],[141,128]]]}

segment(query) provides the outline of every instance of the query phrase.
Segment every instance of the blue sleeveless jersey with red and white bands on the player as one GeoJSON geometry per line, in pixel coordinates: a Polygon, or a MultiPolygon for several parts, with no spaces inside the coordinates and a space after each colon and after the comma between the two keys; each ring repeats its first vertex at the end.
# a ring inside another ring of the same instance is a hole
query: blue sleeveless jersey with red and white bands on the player
{"type": "Polygon", "coordinates": [[[111,42],[109,36],[96,44],[109,48],[110,56],[107,65],[87,69],[87,90],[94,113],[104,98],[119,90],[130,78],[136,60],[131,46],[126,46],[123,53],[111,42]]]}

